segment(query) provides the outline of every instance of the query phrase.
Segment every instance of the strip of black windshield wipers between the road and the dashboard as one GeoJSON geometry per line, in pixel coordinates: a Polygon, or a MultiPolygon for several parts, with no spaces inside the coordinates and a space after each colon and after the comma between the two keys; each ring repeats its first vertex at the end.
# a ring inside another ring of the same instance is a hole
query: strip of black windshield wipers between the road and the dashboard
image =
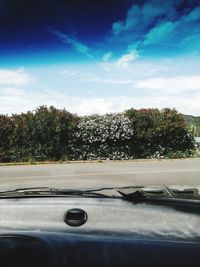
{"type": "Polygon", "coordinates": [[[175,189],[172,187],[102,187],[92,189],[57,189],[51,187],[30,187],[0,192],[0,198],[25,198],[25,197],[109,197],[122,198],[132,202],[143,201],[173,201],[200,203],[200,194],[197,188],[175,189]]]}

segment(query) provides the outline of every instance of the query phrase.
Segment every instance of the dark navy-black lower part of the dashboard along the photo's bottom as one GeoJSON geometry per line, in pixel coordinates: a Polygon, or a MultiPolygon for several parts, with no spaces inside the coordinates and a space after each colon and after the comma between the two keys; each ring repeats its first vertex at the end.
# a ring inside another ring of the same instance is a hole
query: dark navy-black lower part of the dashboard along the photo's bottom
{"type": "Polygon", "coordinates": [[[0,266],[199,266],[200,242],[28,232],[0,236],[0,266]]]}

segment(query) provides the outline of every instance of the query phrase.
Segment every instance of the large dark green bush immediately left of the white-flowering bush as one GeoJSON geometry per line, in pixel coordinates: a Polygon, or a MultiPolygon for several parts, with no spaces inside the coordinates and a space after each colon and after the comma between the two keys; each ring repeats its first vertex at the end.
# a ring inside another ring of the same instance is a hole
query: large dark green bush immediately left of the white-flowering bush
{"type": "Polygon", "coordinates": [[[41,106],[6,118],[13,127],[5,130],[7,137],[1,138],[1,144],[6,140],[10,161],[59,160],[70,154],[79,118],[65,109],[41,106]]]}

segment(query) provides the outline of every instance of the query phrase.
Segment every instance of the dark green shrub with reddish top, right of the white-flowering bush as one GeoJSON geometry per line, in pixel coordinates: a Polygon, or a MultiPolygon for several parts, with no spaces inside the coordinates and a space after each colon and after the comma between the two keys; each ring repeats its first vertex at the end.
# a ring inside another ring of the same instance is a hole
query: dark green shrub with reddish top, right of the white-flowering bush
{"type": "MultiPolygon", "coordinates": [[[[151,157],[163,151],[184,153],[194,149],[194,134],[185,118],[175,109],[130,109],[126,115],[135,129],[131,152],[135,157],[151,157]]],[[[169,153],[169,152],[168,152],[169,153]]]]}

